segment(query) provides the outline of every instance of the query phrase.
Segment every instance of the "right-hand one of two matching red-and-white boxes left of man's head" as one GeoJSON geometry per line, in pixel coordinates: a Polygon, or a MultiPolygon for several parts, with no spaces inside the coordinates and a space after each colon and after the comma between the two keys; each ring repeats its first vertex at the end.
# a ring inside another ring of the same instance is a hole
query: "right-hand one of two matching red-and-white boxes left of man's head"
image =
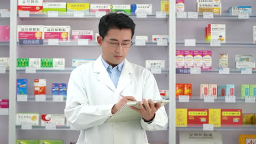
{"type": "Polygon", "coordinates": [[[44,26],[44,39],[59,39],[69,41],[70,26],[44,26]]]}

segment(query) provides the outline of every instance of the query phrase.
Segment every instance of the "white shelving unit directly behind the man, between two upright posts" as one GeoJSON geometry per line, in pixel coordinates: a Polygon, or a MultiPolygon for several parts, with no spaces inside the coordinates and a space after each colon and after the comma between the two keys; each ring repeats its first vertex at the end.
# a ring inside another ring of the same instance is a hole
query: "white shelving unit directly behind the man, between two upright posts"
{"type": "MultiPolygon", "coordinates": [[[[56,2],[47,0],[45,2],[56,2]]],[[[68,0],[58,2],[69,2],[68,0]]],[[[86,2],[86,1],[76,1],[86,2]]],[[[91,3],[91,2],[89,2],[91,3]]],[[[94,3],[102,3],[95,1],[94,3]]],[[[111,1],[112,4],[153,4],[153,14],[160,11],[160,1],[111,1]]],[[[147,18],[137,18],[131,15],[136,23],[135,35],[148,35],[146,46],[133,45],[127,59],[139,65],[145,66],[146,60],[165,60],[166,68],[162,69],[162,74],[155,74],[159,89],[170,89],[169,95],[175,93],[175,67],[174,56],[176,47],[176,18],[175,2],[170,2],[170,16],[166,18],[156,18],[156,15],[148,15],[147,18]],[[150,30],[149,30],[150,29],[150,30]],[[170,41],[167,46],[158,46],[151,43],[151,35],[170,35],[170,41]]],[[[10,44],[10,89],[16,89],[16,79],[28,79],[28,100],[16,101],[16,92],[9,91],[10,95],[10,119],[9,119],[9,143],[15,143],[16,139],[63,139],[65,144],[77,141],[79,131],[72,128],[56,127],[56,130],[46,130],[45,127],[32,127],[32,130],[24,130],[16,126],[17,112],[36,112],[40,114],[63,113],[65,101],[53,101],[51,95],[51,83],[67,83],[69,75],[73,70],[71,67],[72,58],[96,59],[101,54],[100,46],[96,42],[90,42],[88,45],[79,45],[77,41],[68,43],[59,43],[59,45],[49,45],[45,42],[43,45],[19,45],[17,43],[18,25],[49,25],[49,26],[71,26],[71,30],[93,30],[94,34],[98,32],[97,26],[100,18],[94,15],[85,15],[83,17],[74,17],[73,14],[59,13],[59,17],[48,17],[48,15],[30,14],[29,17],[20,17],[17,11],[17,1],[11,0],[11,44],[10,44]],[[65,58],[66,68],[63,70],[36,70],[36,73],[26,73],[25,70],[16,70],[17,58],[65,58]],[[36,101],[33,96],[33,80],[46,79],[46,101],[36,101]]],[[[166,106],[166,112],[169,114],[170,125],[167,130],[147,131],[150,143],[175,143],[175,98],[172,98],[170,106],[166,106]]]]}

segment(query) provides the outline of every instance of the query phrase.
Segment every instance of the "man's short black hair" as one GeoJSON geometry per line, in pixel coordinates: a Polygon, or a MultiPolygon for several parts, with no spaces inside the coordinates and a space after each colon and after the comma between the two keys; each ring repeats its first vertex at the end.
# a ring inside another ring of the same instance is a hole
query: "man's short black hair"
{"type": "MultiPolygon", "coordinates": [[[[132,37],[135,31],[135,23],[133,20],[123,13],[109,13],[101,17],[100,23],[98,24],[98,32],[100,36],[104,38],[112,28],[129,28],[132,32],[132,37]]],[[[132,38],[131,37],[131,38],[132,38]]]]}

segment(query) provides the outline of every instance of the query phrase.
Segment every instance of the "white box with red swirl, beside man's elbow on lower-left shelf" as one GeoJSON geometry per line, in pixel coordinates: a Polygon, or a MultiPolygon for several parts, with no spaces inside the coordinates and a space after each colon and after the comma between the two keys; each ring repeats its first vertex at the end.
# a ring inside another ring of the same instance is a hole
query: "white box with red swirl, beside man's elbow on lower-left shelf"
{"type": "Polygon", "coordinates": [[[65,126],[65,115],[56,115],[56,114],[43,114],[41,115],[41,125],[45,126],[46,124],[54,123],[57,126],[65,126]]]}

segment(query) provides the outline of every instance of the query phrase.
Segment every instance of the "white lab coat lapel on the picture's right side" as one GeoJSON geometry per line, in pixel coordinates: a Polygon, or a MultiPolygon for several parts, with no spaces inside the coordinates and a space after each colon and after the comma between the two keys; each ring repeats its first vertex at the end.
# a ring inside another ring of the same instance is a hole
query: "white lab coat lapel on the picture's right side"
{"type": "Polygon", "coordinates": [[[125,59],[124,67],[118,81],[117,92],[123,91],[132,81],[132,69],[131,63],[125,59]]]}

